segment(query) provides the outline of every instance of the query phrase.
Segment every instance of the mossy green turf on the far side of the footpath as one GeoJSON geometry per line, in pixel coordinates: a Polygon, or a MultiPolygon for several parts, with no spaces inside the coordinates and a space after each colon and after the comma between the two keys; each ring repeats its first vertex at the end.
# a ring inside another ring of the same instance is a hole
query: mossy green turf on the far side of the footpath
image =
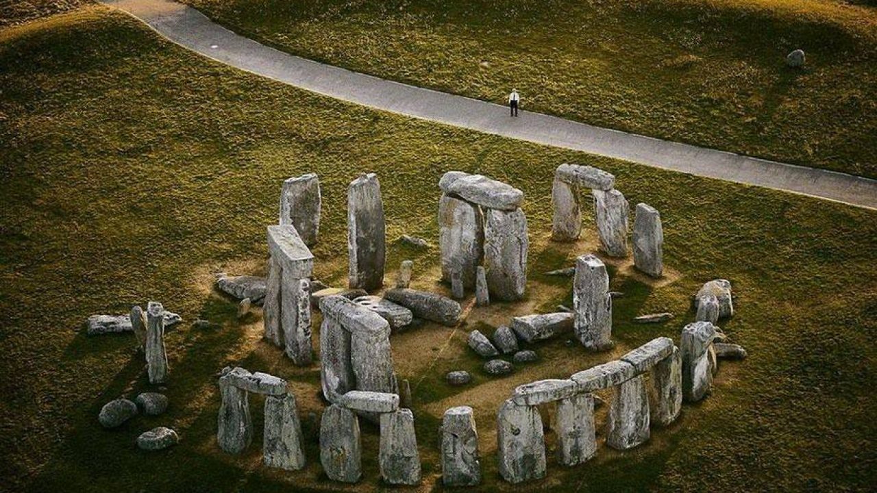
{"type": "Polygon", "coordinates": [[[815,0],[184,0],[319,61],[877,177],[877,11],[815,0]],[[802,48],[807,68],[787,68],[802,48]]]}

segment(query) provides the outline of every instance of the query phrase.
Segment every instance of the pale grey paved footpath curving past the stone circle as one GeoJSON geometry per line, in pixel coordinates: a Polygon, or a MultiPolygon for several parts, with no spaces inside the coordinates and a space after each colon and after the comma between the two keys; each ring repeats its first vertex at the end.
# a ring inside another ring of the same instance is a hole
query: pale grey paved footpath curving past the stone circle
{"type": "Polygon", "coordinates": [[[877,209],[877,181],[652,139],[417,88],[282,53],[170,0],[104,0],[162,36],[216,61],[325,96],[511,139],[610,156],[657,168],[781,189],[877,209]]]}

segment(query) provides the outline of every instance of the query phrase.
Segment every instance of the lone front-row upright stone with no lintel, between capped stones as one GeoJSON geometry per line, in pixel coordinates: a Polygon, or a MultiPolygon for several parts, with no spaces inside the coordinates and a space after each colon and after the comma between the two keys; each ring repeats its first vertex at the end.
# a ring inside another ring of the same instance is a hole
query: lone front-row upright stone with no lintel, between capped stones
{"type": "Polygon", "coordinates": [[[472,408],[453,407],[445,411],[441,425],[441,470],[445,486],[474,486],[481,482],[478,461],[478,432],[472,408]]]}

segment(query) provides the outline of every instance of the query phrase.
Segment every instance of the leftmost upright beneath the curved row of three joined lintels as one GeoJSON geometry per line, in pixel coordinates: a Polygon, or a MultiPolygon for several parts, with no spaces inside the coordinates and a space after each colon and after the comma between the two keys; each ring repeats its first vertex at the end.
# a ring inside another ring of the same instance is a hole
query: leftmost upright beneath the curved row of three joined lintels
{"type": "Polygon", "coordinates": [[[545,477],[545,435],[536,407],[507,400],[496,416],[499,474],[512,484],[545,477]]]}

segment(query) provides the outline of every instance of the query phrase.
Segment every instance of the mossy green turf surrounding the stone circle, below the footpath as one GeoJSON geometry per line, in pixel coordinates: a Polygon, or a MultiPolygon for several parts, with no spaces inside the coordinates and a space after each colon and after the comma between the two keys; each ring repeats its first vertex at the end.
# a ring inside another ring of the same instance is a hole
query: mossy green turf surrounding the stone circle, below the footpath
{"type": "MultiPolygon", "coordinates": [[[[388,237],[430,239],[417,251],[392,242],[390,273],[413,258],[416,285],[435,283],[437,182],[447,170],[480,172],[524,189],[532,249],[529,297],[470,312],[456,331],[427,325],[393,336],[396,368],[415,387],[424,490],[441,489],[437,425],[450,404],[471,404],[481,432],[484,484],[496,475],[498,403],[520,382],[566,376],[648,339],[678,340],[690,296],[713,277],[731,280],[738,314],[723,323],[749,359],[722,363],[712,396],[686,406],[628,453],[601,447],[578,468],[551,460],[527,489],[866,490],[877,483],[877,213],[767,189],[646,168],[400,118],[315,96],[199,58],[105,7],[0,33],[0,476],[30,491],[268,491],[339,489],[317,460],[318,367],[295,368],[260,340],[258,313],[236,319],[232,300],[210,291],[211,273],[264,270],[265,226],[276,220],[282,180],[316,172],[323,185],[318,277],[346,271],[346,186],[378,174],[388,237]],[[557,339],[542,360],[502,379],[481,373],[465,348],[478,322],[568,303],[569,284],[541,273],[590,251],[549,243],[550,188],[561,162],[618,177],[631,200],[657,207],[673,275],[642,282],[611,269],[617,349],[588,354],[557,339]],[[168,412],[114,431],[96,420],[119,396],[152,389],[131,335],[89,338],[93,313],[122,313],[159,300],[187,321],[168,331],[168,412]],[[631,325],[639,313],[672,311],[664,325],[631,325]],[[208,318],[221,328],[196,330],[208,318]],[[216,445],[215,374],[241,365],[288,378],[301,406],[309,467],[300,473],[216,445]],[[452,389],[450,368],[474,383],[452,389]],[[313,413],[313,414],[312,414],[313,413]],[[168,425],[177,447],[134,447],[139,432],[168,425]]],[[[864,90],[864,89],[863,89],[864,90]]],[[[318,331],[317,331],[318,332],[318,331]]],[[[381,489],[377,434],[365,426],[366,477],[381,489]]],[[[551,435],[549,434],[549,441],[551,435]]],[[[353,488],[348,488],[353,489],[353,488]]]]}

